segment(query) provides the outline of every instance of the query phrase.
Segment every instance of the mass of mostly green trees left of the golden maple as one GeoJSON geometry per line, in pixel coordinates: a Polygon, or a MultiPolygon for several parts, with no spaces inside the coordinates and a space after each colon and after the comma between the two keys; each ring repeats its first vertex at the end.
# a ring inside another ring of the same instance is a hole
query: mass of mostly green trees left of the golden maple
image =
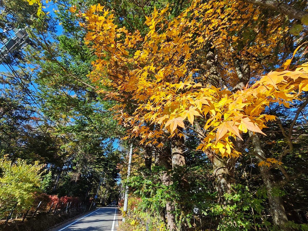
{"type": "Polygon", "coordinates": [[[62,198],[78,197],[85,203],[100,189],[96,202],[108,204],[119,194],[122,152],[116,149],[122,129],[86,77],[93,55],[80,46],[83,32],[70,26],[75,22],[61,4],[51,15],[34,14],[39,11],[33,3],[13,0],[1,5],[8,12],[2,14],[2,23],[10,26],[2,35],[28,26],[30,41],[17,56],[9,54],[14,62],[2,63],[1,69],[0,153],[6,158],[0,172],[1,218],[12,209],[22,216],[39,201],[42,209],[51,201],[55,207],[62,198]],[[9,17],[23,4],[25,18],[9,17]],[[59,21],[67,27],[57,28],[59,21]],[[62,34],[56,35],[57,29],[62,34]],[[9,166],[20,173],[9,174],[9,166]]]}

